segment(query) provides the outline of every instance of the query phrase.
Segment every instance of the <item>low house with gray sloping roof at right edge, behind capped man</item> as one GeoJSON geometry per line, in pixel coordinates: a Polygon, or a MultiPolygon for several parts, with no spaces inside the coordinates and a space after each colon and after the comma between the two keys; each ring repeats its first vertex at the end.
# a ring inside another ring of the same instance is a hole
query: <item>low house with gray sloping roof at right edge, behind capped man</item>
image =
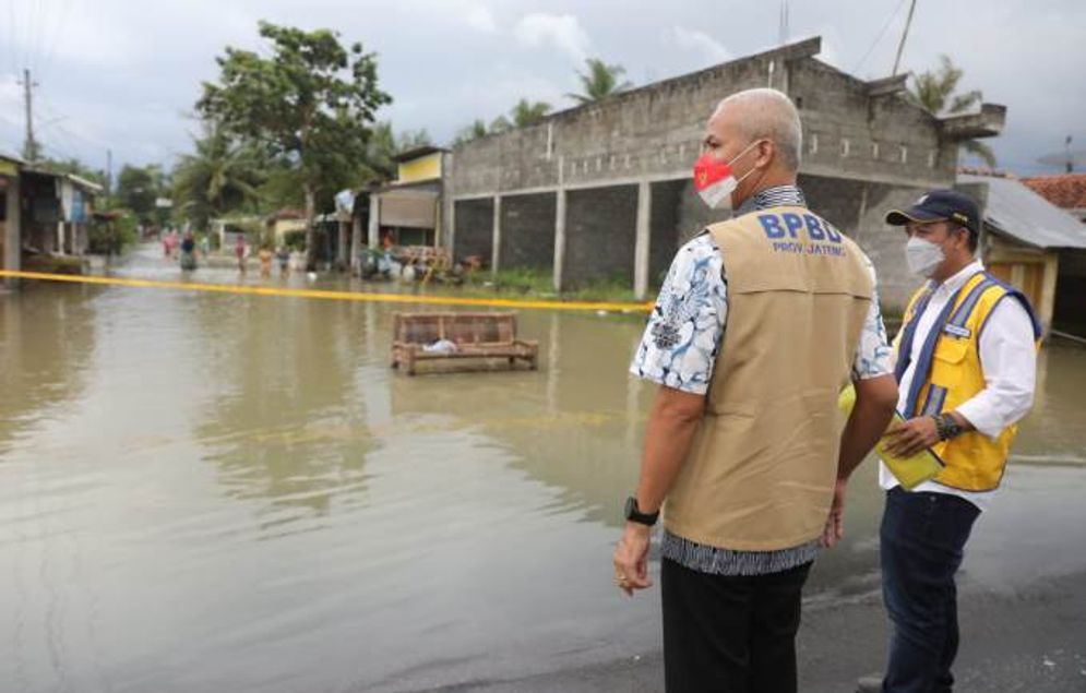
{"type": "Polygon", "coordinates": [[[1086,334],[1086,226],[1005,175],[958,175],[983,210],[981,256],[1029,298],[1049,334],[1086,334]]]}

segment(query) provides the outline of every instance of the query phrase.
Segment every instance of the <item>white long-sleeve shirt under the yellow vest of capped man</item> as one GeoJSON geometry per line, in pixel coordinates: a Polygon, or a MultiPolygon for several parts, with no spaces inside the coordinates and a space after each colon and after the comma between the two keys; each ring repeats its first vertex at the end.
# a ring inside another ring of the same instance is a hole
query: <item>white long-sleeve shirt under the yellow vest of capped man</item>
{"type": "MultiPolygon", "coordinates": [[[[979,260],[972,262],[932,292],[931,300],[920,316],[920,322],[917,323],[916,336],[912,338],[911,363],[898,384],[900,392],[897,401],[898,411],[904,413],[906,409],[906,399],[916,374],[916,365],[920,360],[920,350],[935,319],[969,277],[983,268],[979,260]]],[[[1002,300],[995,306],[980,333],[979,347],[987,386],[955,410],[968,419],[977,431],[995,439],[1006,427],[1026,416],[1034,403],[1037,349],[1033,321],[1021,302],[1002,300]]],[[[887,490],[898,485],[897,479],[882,463],[879,463],[879,483],[887,490]]],[[[962,491],[934,481],[921,483],[914,490],[958,495],[980,510],[984,510],[997,493],[995,490],[962,491]]]]}

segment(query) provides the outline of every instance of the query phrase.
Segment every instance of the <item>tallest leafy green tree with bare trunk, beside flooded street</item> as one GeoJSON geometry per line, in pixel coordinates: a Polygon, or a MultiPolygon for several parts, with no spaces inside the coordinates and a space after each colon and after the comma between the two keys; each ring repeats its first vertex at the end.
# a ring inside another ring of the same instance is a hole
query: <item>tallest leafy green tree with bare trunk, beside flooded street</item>
{"type": "Polygon", "coordinates": [[[261,22],[260,35],[272,44],[271,55],[227,47],[216,59],[219,84],[204,83],[196,109],[291,163],[305,194],[312,266],[318,194],[333,194],[345,174],[357,171],[368,126],[392,97],[378,88],[377,57],[358,43],[348,51],[337,32],[261,22]]]}

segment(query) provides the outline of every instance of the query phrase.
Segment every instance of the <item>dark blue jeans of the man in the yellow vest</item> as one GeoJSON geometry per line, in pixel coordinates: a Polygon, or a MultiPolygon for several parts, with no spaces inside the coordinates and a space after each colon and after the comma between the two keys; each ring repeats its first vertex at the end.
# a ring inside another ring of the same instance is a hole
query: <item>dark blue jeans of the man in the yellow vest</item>
{"type": "Polygon", "coordinates": [[[954,686],[957,587],[965,542],[980,510],[944,493],[886,493],[880,555],[882,594],[893,625],[883,690],[944,693],[954,686]]]}

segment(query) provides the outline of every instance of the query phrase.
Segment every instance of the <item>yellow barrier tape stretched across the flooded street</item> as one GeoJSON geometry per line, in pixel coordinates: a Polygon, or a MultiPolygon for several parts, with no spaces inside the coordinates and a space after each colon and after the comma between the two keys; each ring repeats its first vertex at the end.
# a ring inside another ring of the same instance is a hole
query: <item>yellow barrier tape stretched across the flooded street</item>
{"type": "Polygon", "coordinates": [[[502,298],[464,298],[454,296],[416,296],[407,294],[366,294],[356,291],[326,291],[323,289],[287,289],[264,286],[228,286],[225,284],[198,284],[189,282],[159,282],[155,279],[128,279],[119,277],[93,277],[46,272],[22,272],[0,270],[0,277],[38,279],[43,282],[69,282],[72,284],[99,284],[107,286],[129,286],[155,289],[180,289],[183,291],[213,291],[217,294],[249,294],[255,296],[291,296],[332,301],[363,301],[374,303],[429,303],[433,306],[476,306],[484,308],[528,308],[539,310],[606,310],[623,312],[648,312],[653,303],[620,303],[607,301],[536,301],[502,298]]]}

